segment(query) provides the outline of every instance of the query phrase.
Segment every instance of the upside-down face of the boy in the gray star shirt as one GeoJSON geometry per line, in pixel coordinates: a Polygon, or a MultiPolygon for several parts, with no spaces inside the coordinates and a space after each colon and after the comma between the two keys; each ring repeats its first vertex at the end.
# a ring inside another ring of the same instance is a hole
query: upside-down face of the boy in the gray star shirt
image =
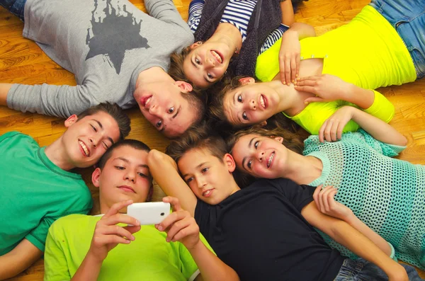
{"type": "Polygon", "coordinates": [[[166,137],[178,137],[196,120],[186,98],[192,86],[186,82],[146,83],[135,91],[134,98],[145,118],[166,137]]]}

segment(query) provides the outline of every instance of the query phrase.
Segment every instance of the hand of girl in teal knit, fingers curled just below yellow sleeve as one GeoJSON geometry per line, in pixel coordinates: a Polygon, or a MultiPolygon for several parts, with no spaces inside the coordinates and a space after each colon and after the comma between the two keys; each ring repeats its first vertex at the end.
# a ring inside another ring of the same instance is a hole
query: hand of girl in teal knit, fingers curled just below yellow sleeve
{"type": "Polygon", "coordinates": [[[344,106],[335,111],[326,121],[323,122],[319,130],[319,141],[336,142],[342,138],[342,132],[348,121],[353,117],[356,108],[344,106]]]}

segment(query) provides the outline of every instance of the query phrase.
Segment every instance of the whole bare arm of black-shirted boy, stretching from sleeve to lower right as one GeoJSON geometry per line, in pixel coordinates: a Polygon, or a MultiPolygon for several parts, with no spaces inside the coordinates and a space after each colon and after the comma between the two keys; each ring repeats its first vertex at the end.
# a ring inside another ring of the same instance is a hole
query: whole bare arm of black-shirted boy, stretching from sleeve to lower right
{"type": "Polygon", "coordinates": [[[319,212],[314,202],[305,206],[301,214],[307,222],[324,231],[334,241],[346,246],[357,256],[377,265],[388,275],[389,280],[409,280],[406,270],[382,252],[372,241],[341,219],[319,212]]]}

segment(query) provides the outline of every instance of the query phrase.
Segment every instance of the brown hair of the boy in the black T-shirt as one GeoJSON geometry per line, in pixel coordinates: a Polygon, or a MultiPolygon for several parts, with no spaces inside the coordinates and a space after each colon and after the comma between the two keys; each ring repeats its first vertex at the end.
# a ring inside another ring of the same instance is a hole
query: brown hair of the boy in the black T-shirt
{"type": "Polygon", "coordinates": [[[179,163],[181,157],[191,149],[208,149],[212,156],[217,157],[221,162],[227,154],[225,140],[212,131],[205,122],[191,127],[181,137],[172,140],[165,153],[179,163]]]}

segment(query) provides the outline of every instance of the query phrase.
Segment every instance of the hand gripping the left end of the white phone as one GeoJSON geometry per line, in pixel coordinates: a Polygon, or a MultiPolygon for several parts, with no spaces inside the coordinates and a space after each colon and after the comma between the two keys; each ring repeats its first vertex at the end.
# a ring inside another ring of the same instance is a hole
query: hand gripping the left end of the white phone
{"type": "Polygon", "coordinates": [[[134,217],[119,213],[121,209],[130,204],[132,204],[132,200],[115,203],[96,223],[88,253],[96,260],[102,262],[108,256],[108,252],[118,243],[129,244],[130,241],[135,240],[135,236],[132,234],[140,230],[140,222],[134,217]],[[120,223],[132,224],[132,226],[118,226],[117,224],[120,223]]]}

